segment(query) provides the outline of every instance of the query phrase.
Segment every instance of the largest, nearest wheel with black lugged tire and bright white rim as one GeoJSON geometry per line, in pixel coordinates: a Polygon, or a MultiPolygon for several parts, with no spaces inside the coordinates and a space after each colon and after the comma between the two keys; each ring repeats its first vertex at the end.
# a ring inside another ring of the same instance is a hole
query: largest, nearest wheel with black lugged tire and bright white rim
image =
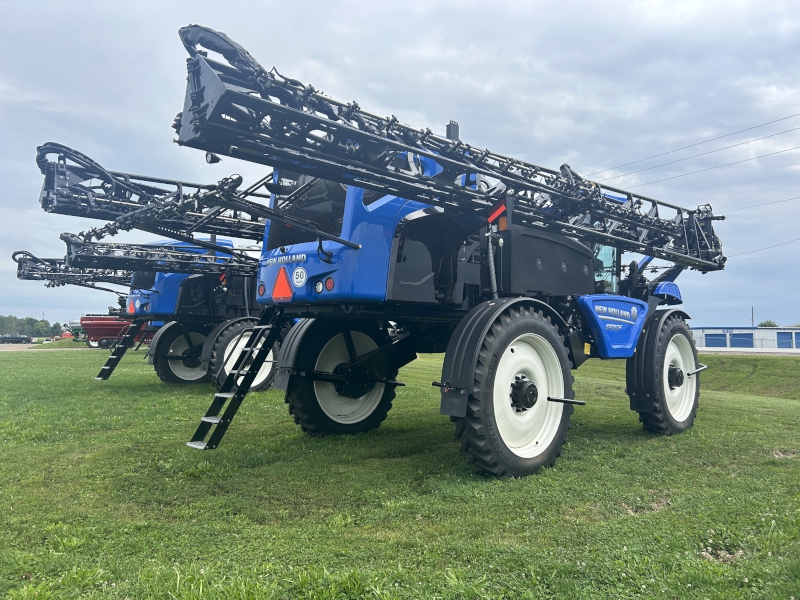
{"type": "Polygon", "coordinates": [[[481,342],[466,417],[453,418],[467,462],[482,474],[524,477],[551,467],[567,441],[573,398],[564,338],[528,307],[500,314],[481,342]]]}

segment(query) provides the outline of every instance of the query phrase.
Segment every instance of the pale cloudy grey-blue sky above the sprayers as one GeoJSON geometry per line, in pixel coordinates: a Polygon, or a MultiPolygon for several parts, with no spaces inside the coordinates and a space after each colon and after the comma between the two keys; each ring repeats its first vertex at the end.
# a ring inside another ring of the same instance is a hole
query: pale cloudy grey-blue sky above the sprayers
{"type": "MultiPolygon", "coordinates": [[[[472,145],[605,170],[595,180],[624,175],[608,183],[659,200],[725,214],[800,196],[800,149],[789,150],[800,147],[796,2],[0,0],[0,11],[0,314],[66,322],[115,304],[16,279],[13,251],[63,256],[61,232],[100,224],[41,210],[38,145],[170,179],[265,173],[234,159],[208,165],[173,143],[186,85],[177,32],[190,23],[370,112],[442,134],[452,119],[472,145]],[[639,169],[648,170],[628,174],[639,169]]],[[[800,200],[717,222],[727,268],[678,279],[691,324],[750,325],[751,310],[756,322],[800,322],[800,241],[751,252],[800,238],[798,224],[800,200]]]]}

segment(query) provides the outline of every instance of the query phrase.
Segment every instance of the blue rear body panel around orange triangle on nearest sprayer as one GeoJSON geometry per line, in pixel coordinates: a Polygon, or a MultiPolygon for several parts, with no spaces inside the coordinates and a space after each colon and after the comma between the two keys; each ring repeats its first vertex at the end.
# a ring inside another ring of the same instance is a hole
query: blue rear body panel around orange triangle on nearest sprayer
{"type": "MultiPolygon", "coordinates": [[[[317,242],[303,242],[285,246],[286,252],[279,248],[266,250],[270,227],[268,222],[264,232],[258,283],[264,284],[264,295],[258,296],[259,304],[274,304],[272,289],[280,269],[285,268],[290,282],[295,282],[294,273],[298,268],[305,271],[305,282],[291,284],[292,298],[286,302],[383,302],[386,300],[386,286],[389,279],[392,240],[397,224],[406,215],[428,208],[421,202],[384,196],[369,206],[364,206],[364,191],[348,186],[342,218],[342,232],[339,237],[361,244],[361,249],[348,248],[338,242],[323,241],[324,250],[332,256],[326,263],[317,253],[317,242]],[[314,291],[314,284],[327,278],[333,279],[333,290],[321,294],[314,291]]],[[[274,197],[270,205],[274,203],[274,197]]],[[[275,226],[282,226],[276,224],[275,226]]],[[[298,278],[298,281],[302,278],[298,278]]],[[[277,302],[280,304],[280,301],[277,302]]]]}

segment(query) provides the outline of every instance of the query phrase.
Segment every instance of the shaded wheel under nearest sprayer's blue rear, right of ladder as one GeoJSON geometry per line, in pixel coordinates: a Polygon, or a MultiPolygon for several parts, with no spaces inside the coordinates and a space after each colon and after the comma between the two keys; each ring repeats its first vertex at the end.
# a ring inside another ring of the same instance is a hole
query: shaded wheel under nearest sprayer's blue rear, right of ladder
{"type": "MultiPolygon", "coordinates": [[[[356,353],[365,354],[389,341],[384,331],[368,322],[350,322],[356,353]]],[[[332,372],[349,356],[341,324],[316,321],[303,336],[294,368],[298,371],[332,372]]],[[[389,370],[385,353],[374,358],[379,378],[393,380],[397,369],[389,370]]],[[[380,427],[392,408],[393,385],[377,383],[360,398],[341,396],[333,383],[292,376],[286,394],[289,414],[304,432],[315,437],[328,434],[360,433],[380,427]]]]}

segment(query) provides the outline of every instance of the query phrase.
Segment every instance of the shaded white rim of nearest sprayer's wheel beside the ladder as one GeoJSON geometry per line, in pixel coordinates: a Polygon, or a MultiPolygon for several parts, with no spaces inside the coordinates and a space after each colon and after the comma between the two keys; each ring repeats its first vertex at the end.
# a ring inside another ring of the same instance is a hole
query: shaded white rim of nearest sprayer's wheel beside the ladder
{"type": "MultiPolygon", "coordinates": [[[[356,354],[366,354],[378,347],[371,337],[360,331],[351,332],[353,346],[356,354]]],[[[344,343],[344,336],[340,333],[325,344],[322,352],[317,357],[317,364],[314,368],[317,371],[327,371],[328,373],[343,362],[349,362],[350,356],[347,354],[347,346],[344,343]]],[[[314,392],[317,396],[320,408],[333,421],[343,425],[360,423],[369,417],[383,397],[383,383],[376,383],[375,387],[360,398],[347,398],[340,396],[336,392],[334,385],[328,381],[315,381],[314,392]]]]}

